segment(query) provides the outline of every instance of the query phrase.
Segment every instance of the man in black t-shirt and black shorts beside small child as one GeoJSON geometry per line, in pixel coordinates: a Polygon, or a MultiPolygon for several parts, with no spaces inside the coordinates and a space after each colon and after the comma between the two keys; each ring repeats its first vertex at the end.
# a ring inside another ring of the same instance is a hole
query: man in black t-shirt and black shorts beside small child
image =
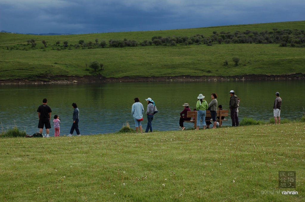
{"type": "Polygon", "coordinates": [[[42,134],[43,126],[45,126],[46,135],[44,137],[49,137],[49,129],[51,128],[50,119],[51,119],[51,107],[47,105],[48,100],[45,98],[42,100],[42,105],[38,107],[38,128],[39,132],[42,134]]]}

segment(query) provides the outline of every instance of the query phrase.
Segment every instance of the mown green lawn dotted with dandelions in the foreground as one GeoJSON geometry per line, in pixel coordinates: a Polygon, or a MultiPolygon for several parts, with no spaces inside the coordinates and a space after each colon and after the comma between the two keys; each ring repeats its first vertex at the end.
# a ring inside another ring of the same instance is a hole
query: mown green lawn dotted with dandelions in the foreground
{"type": "Polygon", "coordinates": [[[303,201],[304,135],[296,123],[1,138],[1,201],[303,201]],[[278,171],[296,171],[280,191],[298,195],[276,193],[278,171]]]}

